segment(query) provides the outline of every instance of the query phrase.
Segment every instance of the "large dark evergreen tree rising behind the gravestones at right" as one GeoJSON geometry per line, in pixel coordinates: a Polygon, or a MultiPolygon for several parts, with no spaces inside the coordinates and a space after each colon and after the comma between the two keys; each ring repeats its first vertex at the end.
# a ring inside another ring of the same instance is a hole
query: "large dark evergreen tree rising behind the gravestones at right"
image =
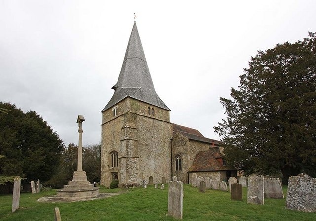
{"type": "Polygon", "coordinates": [[[249,173],[316,176],[316,33],[258,51],[215,132],[227,160],[249,173]]]}

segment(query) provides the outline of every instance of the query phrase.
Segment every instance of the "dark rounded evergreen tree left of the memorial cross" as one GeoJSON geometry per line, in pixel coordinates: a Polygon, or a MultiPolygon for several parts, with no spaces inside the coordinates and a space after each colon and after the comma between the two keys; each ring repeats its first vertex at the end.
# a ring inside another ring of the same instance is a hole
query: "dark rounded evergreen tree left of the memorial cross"
{"type": "Polygon", "coordinates": [[[10,103],[0,102],[1,176],[49,180],[56,172],[64,144],[36,111],[24,113],[10,103]]]}

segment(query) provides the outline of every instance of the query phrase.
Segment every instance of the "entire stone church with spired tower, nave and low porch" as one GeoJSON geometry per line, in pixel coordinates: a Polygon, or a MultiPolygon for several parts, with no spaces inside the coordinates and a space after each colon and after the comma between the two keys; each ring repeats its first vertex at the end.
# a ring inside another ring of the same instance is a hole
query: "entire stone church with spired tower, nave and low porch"
{"type": "Polygon", "coordinates": [[[185,184],[192,175],[218,181],[237,176],[226,165],[220,141],[170,122],[170,109],[156,94],[136,22],[128,41],[114,94],[102,112],[101,181],[110,186],[169,182],[185,184]]]}

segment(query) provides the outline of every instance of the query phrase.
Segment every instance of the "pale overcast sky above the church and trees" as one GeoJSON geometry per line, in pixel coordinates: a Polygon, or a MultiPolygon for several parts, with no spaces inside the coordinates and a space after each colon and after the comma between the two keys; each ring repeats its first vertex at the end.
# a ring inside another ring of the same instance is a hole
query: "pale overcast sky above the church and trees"
{"type": "Polygon", "coordinates": [[[257,50],[316,32],[315,0],[0,0],[0,101],[37,111],[65,144],[101,141],[136,23],[170,121],[220,139],[213,127],[257,50]]]}

